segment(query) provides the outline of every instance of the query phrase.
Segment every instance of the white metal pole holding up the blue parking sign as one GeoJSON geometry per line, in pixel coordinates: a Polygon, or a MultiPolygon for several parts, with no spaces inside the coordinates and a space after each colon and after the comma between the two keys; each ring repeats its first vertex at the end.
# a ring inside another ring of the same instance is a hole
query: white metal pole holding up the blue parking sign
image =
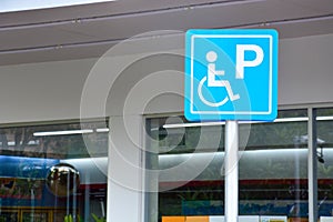
{"type": "Polygon", "coordinates": [[[225,222],[239,221],[239,124],[238,121],[225,123],[224,157],[224,215],[225,222]]]}

